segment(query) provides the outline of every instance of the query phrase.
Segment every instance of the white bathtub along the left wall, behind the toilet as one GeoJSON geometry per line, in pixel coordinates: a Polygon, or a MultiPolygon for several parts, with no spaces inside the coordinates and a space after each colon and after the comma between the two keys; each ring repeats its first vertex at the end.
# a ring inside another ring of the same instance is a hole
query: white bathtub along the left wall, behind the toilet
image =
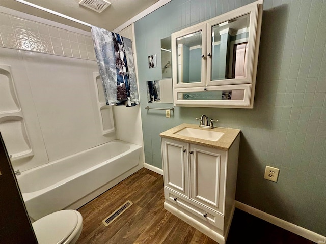
{"type": "Polygon", "coordinates": [[[32,221],[77,209],[140,169],[141,148],[114,140],[22,172],[18,185],[32,221]]]}

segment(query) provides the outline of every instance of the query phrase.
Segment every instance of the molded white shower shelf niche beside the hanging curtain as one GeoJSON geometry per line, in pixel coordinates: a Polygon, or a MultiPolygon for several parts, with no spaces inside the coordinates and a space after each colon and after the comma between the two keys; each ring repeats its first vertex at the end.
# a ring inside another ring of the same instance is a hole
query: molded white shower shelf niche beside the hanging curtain
{"type": "Polygon", "coordinates": [[[99,72],[93,72],[93,78],[96,90],[97,108],[100,116],[101,132],[102,135],[110,134],[115,131],[112,108],[106,105],[104,89],[99,72]]]}

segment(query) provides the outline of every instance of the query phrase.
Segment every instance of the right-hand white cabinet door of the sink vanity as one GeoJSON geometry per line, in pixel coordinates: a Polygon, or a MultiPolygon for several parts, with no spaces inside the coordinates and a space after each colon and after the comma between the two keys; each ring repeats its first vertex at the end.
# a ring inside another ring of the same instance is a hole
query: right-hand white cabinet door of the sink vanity
{"type": "Polygon", "coordinates": [[[190,198],[224,214],[226,151],[190,144],[190,198]]]}

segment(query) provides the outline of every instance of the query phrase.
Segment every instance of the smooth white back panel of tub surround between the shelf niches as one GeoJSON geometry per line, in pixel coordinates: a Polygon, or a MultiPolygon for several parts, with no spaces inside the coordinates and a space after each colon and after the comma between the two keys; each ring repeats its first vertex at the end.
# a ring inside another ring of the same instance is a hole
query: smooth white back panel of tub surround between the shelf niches
{"type": "MultiPolygon", "coordinates": [[[[34,157],[12,161],[15,170],[24,171],[116,139],[114,130],[102,135],[93,78],[98,71],[95,61],[8,48],[0,48],[0,55],[11,68],[34,152],[34,157]]],[[[111,111],[104,111],[108,118],[112,118],[111,111]]]]}

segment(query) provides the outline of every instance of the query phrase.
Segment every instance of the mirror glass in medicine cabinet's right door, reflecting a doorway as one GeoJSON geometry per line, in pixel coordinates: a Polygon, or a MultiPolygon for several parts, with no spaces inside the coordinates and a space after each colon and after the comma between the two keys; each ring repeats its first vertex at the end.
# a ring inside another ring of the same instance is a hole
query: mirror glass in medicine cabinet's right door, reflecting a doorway
{"type": "Polygon", "coordinates": [[[212,80],[246,78],[250,14],[212,26],[212,80]]]}

